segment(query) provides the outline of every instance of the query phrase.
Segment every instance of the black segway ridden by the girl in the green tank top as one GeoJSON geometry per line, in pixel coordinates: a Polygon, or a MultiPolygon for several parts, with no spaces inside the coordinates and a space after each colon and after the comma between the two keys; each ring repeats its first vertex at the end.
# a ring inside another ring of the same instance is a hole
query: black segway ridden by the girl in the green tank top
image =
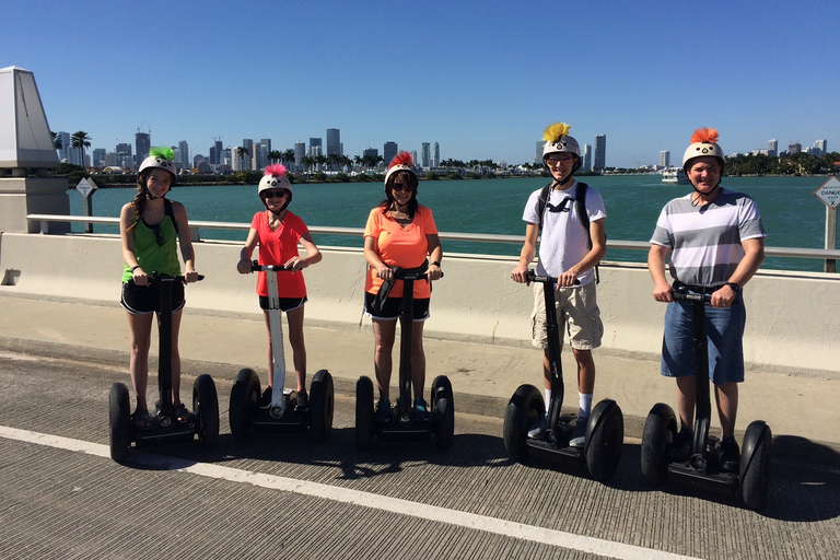
{"type": "MultiPolygon", "coordinates": [[[[199,276],[198,279],[202,280],[203,276],[199,276]]],[[[201,374],[192,384],[194,421],[178,422],[172,401],[172,285],[173,282],[184,282],[184,277],[153,272],[149,281],[159,284],[161,298],[161,311],[158,314],[160,398],[155,402],[154,412],[149,415],[152,421],[151,428],[138,430],[131,422],[128,387],[124,383],[112,385],[108,398],[109,441],[110,457],[116,462],[125,459],[132,443],[137,447],[142,447],[192,441],[198,436],[205,445],[211,447],[219,440],[219,400],[215,384],[210,375],[201,374]]]]}

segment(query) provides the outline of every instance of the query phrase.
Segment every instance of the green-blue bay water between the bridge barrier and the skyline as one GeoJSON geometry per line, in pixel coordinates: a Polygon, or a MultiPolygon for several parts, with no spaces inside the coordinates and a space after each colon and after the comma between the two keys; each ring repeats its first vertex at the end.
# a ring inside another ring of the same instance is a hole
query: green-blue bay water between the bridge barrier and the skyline
{"type": "MultiPolygon", "coordinates": [[[[758,203],[767,246],[822,248],[826,206],[814,191],[827,177],[725,177],[723,186],[752,197],[758,203]]],[[[690,185],[664,185],[660,175],[591,176],[580,180],[596,188],[607,208],[607,238],[648,242],[662,207],[672,198],[684,196],[690,185]]],[[[522,212],[528,195],[542,187],[547,178],[423,180],[418,200],[432,209],[441,232],[523,235],[522,212]]],[[[364,228],[368,213],[384,198],[382,183],[328,183],[293,185],[289,207],[310,226],[364,228]]],[[[119,210],[135,196],[135,188],[101,188],[92,196],[93,214],[119,217],[119,210]]],[[[70,211],[84,215],[82,195],[69,191],[70,211]]],[[[250,223],[262,209],[256,185],[196,186],[176,185],[168,198],[183,202],[190,221],[250,223]]],[[[74,232],[83,231],[81,223],[74,232]]],[[[118,233],[116,225],[95,224],[97,233],[118,233]]],[[[244,242],[246,232],[200,230],[201,238],[244,242]]],[[[360,236],[314,234],[319,246],[355,246],[360,236]]],[[[474,253],[511,255],[520,246],[497,243],[444,241],[444,254],[474,253]]],[[[643,250],[607,250],[606,260],[644,262],[643,250]]],[[[819,259],[768,257],[763,269],[821,271],[819,259]]]]}

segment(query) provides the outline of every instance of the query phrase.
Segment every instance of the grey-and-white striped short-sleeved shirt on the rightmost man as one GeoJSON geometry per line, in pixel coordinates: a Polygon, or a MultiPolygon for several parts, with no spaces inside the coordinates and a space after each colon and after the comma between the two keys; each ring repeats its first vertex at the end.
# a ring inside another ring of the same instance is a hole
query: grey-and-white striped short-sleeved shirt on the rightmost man
{"type": "Polygon", "coordinates": [[[705,206],[691,196],[665,205],[651,243],[672,249],[670,276],[686,284],[718,287],[744,258],[742,242],[767,237],[756,202],[743,192],[721,188],[705,206]]]}

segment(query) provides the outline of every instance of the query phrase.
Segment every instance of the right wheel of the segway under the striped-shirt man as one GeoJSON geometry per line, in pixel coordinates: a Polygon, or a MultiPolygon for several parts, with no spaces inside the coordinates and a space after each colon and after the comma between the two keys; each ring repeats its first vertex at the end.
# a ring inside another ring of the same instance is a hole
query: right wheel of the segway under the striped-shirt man
{"type": "Polygon", "coordinates": [[[744,505],[758,511],[767,504],[770,487],[770,460],[773,452],[773,434],[770,427],[756,420],[744,434],[740,453],[740,497],[744,505]]]}

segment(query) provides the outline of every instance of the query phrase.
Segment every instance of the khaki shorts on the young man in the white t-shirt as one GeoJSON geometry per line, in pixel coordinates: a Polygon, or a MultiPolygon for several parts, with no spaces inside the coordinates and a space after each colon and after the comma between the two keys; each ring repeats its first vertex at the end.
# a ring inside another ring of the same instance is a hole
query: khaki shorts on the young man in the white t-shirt
{"type": "MultiPolygon", "coordinates": [[[[534,311],[530,314],[532,343],[536,348],[548,348],[546,323],[546,295],[541,282],[534,283],[534,311]]],[[[556,288],[556,287],[555,287],[556,288]]],[[[596,301],[595,282],[579,288],[555,290],[558,335],[563,343],[563,330],[569,334],[569,343],[575,350],[592,350],[600,346],[604,323],[596,301]]]]}

